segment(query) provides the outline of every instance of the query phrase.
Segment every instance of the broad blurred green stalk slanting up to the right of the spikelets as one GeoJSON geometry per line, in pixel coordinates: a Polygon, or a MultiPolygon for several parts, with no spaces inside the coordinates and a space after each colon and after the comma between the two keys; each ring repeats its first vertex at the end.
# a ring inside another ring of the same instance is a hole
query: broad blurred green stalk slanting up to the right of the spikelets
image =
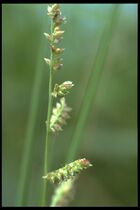
{"type": "Polygon", "coordinates": [[[95,62],[93,64],[93,71],[91,71],[91,75],[88,81],[88,86],[86,88],[85,95],[83,97],[82,106],[79,113],[79,119],[70,145],[67,162],[74,161],[76,153],[82,142],[84,127],[87,121],[87,117],[93,99],[95,98],[95,94],[97,92],[97,87],[99,84],[101,73],[103,71],[103,67],[109,50],[109,43],[111,41],[112,34],[116,26],[118,12],[119,12],[119,5],[113,6],[110,16],[110,23],[109,25],[105,26],[104,32],[102,34],[101,41],[99,43],[99,47],[96,53],[95,62]]]}

